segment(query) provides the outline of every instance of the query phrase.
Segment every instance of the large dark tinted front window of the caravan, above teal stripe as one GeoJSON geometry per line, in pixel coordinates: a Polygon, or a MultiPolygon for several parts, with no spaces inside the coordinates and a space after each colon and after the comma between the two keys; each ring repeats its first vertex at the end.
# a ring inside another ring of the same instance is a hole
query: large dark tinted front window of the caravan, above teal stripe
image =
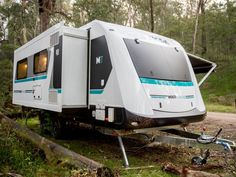
{"type": "Polygon", "coordinates": [[[139,77],[190,81],[186,58],[173,47],[124,39],[139,77]]]}

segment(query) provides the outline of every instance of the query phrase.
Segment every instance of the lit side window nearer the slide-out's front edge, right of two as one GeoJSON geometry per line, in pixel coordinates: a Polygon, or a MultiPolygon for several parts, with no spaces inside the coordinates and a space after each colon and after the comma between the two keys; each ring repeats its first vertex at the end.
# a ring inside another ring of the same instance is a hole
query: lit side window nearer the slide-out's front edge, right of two
{"type": "Polygon", "coordinates": [[[34,73],[43,73],[47,71],[48,51],[43,50],[34,55],[34,73]]]}

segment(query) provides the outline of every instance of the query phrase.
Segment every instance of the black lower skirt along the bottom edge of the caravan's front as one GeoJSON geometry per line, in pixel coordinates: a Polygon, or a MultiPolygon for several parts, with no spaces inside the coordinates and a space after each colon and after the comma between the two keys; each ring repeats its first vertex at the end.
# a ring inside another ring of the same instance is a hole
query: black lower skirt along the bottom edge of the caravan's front
{"type": "Polygon", "coordinates": [[[92,112],[96,110],[94,105],[90,105],[90,109],[63,109],[63,117],[71,119],[71,121],[84,122],[95,126],[103,126],[114,129],[141,129],[141,128],[153,128],[171,125],[185,125],[192,122],[202,121],[206,113],[199,113],[191,116],[177,116],[176,117],[143,117],[129,112],[124,108],[117,107],[105,107],[105,113],[108,114],[108,108],[114,108],[114,122],[107,122],[105,120],[96,120],[92,117],[92,112]],[[76,115],[76,116],[75,116],[76,115]],[[74,120],[76,118],[76,120],[74,120]],[[137,122],[137,125],[132,125],[133,122],[137,122]]]}

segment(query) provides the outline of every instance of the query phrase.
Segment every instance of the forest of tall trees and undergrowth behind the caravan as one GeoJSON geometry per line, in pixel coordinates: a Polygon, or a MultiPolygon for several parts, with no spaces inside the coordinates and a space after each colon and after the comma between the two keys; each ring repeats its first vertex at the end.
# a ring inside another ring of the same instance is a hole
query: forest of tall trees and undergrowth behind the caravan
{"type": "Polygon", "coordinates": [[[15,49],[60,21],[80,27],[94,19],[173,38],[217,63],[201,87],[207,108],[236,112],[235,0],[0,0],[0,111],[20,112],[11,104],[15,49]]]}

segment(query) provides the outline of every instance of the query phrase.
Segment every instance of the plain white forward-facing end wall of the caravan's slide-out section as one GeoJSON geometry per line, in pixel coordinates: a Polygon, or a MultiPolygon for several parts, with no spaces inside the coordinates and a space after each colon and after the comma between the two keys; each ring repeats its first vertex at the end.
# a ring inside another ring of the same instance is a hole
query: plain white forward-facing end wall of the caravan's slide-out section
{"type": "Polygon", "coordinates": [[[86,106],[87,40],[63,36],[63,106],[86,106]]]}

